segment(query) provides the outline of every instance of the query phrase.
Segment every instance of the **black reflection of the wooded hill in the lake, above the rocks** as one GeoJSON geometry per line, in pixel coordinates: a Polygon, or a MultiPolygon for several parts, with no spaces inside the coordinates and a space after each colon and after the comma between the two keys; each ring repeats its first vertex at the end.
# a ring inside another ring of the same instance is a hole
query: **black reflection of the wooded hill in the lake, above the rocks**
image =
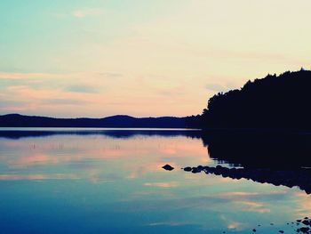
{"type": "Polygon", "coordinates": [[[211,158],[243,167],[299,168],[311,166],[310,133],[203,134],[211,158]]]}

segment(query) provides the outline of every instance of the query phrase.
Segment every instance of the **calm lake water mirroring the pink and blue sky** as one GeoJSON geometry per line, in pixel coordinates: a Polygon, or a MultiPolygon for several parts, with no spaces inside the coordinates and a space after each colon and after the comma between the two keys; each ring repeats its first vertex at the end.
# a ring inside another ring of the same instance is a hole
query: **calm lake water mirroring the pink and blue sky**
{"type": "Polygon", "coordinates": [[[193,131],[11,130],[0,233],[293,233],[311,215],[299,188],[180,170],[218,164],[193,131]]]}

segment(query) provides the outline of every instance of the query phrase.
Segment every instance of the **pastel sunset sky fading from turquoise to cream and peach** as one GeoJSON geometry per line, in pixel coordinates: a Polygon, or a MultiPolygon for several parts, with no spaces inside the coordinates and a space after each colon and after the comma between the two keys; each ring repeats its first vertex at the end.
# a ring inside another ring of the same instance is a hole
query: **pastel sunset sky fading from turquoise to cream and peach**
{"type": "Polygon", "coordinates": [[[215,93],[311,69],[309,9],[310,0],[1,0],[0,114],[201,114],[215,93]]]}

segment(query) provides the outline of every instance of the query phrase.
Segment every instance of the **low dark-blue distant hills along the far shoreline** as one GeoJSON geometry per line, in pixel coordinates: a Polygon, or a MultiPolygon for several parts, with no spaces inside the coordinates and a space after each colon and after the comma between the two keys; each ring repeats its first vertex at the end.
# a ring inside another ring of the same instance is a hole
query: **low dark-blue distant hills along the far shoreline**
{"type": "Polygon", "coordinates": [[[19,114],[0,116],[0,127],[149,127],[190,128],[191,117],[130,117],[54,118],[19,114]]]}

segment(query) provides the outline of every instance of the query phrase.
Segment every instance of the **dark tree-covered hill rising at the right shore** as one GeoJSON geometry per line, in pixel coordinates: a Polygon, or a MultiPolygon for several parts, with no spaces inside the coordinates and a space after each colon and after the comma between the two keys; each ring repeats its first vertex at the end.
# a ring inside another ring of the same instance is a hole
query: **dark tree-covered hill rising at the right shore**
{"type": "Polygon", "coordinates": [[[197,121],[204,129],[311,130],[311,71],[268,75],[218,93],[197,121]]]}

